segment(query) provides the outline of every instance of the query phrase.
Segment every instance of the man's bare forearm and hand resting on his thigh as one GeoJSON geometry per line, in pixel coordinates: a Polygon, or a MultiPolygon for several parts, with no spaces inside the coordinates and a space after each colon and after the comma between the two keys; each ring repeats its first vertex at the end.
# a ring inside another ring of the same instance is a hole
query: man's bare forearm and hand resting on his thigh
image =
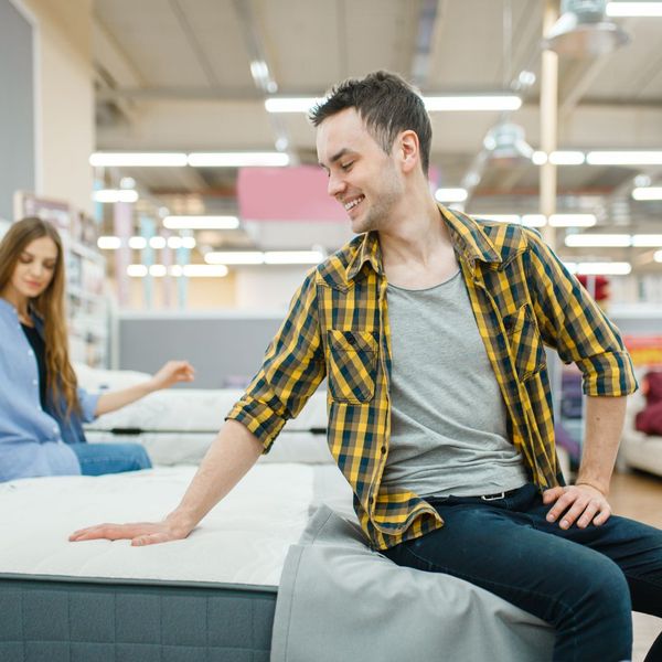
{"type": "Polygon", "coordinates": [[[623,429],[626,399],[626,396],[587,398],[584,452],[577,481],[543,493],[544,503],[555,502],[547,513],[548,522],[562,517],[562,528],[575,523],[586,528],[591,522],[596,526],[604,524],[611,515],[607,496],[623,429]]]}

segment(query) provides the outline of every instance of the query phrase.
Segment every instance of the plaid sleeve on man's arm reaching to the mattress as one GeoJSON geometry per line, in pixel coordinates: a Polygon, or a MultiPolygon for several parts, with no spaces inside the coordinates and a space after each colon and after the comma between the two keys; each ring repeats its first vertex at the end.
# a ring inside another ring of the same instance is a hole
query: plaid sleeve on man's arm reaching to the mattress
{"type": "Polygon", "coordinates": [[[310,271],[295,293],[261,367],[226,416],[245,425],[260,440],[265,453],[325,375],[316,276],[316,270],[310,271]]]}

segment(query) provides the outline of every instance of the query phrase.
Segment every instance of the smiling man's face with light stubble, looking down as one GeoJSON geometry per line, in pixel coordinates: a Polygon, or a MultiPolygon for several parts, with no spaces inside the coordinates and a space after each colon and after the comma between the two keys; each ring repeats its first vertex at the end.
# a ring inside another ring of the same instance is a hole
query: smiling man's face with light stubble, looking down
{"type": "Polygon", "coordinates": [[[329,195],[345,209],[356,234],[380,229],[404,193],[395,158],[384,152],[354,108],[322,121],[318,159],[329,174],[329,195]]]}

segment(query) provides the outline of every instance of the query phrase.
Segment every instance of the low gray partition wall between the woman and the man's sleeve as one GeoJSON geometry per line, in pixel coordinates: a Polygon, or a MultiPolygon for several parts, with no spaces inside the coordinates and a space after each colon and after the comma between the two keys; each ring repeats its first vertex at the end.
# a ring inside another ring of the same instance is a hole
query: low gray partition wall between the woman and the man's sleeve
{"type": "Polygon", "coordinates": [[[195,367],[192,388],[242,388],[261,365],[285,311],[263,314],[120,313],[120,370],[153,373],[169,359],[185,359],[195,367]]]}

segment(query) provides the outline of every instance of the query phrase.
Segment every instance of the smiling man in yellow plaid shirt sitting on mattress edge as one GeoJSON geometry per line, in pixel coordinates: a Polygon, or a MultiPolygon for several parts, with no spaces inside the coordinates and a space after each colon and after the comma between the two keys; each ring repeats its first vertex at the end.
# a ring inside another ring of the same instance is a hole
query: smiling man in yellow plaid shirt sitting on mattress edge
{"type": "Polygon", "coordinates": [[[341,84],[312,121],[329,194],[359,236],[303,281],[178,509],[72,540],[185,537],[327,376],[329,446],[375,548],[551,622],[555,660],[629,659],[632,606],[662,616],[662,532],[610,516],[636,388],[617,330],[537,233],[435,203],[429,118],[399,77],[341,84]],[[543,343],[584,373],[573,487],[543,343]]]}

